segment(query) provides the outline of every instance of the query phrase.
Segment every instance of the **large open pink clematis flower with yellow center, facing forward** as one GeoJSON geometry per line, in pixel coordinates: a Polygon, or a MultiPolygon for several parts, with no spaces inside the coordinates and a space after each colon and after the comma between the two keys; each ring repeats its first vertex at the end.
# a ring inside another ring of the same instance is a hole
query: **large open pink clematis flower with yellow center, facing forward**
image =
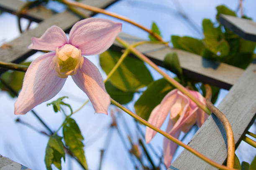
{"type": "Polygon", "coordinates": [[[97,67],[82,55],[97,55],[107,50],[121,31],[122,24],[100,18],[77,22],[69,40],[61,28],[52,26],[40,38],[32,38],[35,50],[50,50],[36,58],[25,74],[15,102],[16,115],[23,115],[36,105],[54,97],[71,75],[89,97],[97,113],[108,114],[110,97],[97,67]]]}

